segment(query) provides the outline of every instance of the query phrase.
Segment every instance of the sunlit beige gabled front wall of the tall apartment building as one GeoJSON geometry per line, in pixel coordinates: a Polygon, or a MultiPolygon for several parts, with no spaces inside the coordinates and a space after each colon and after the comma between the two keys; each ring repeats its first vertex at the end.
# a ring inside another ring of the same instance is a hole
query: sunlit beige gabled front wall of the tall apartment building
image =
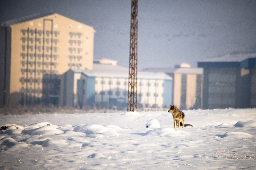
{"type": "Polygon", "coordinates": [[[92,27],[52,14],[10,25],[10,29],[11,105],[41,98],[45,74],[61,75],[70,68],[92,69],[92,27]]]}

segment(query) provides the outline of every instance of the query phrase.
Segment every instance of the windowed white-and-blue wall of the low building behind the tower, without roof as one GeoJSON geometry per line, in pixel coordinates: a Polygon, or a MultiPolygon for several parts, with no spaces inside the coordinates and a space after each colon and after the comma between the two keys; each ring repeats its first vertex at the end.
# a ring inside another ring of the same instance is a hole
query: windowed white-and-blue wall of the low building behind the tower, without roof
{"type": "MultiPolygon", "coordinates": [[[[96,106],[97,108],[126,108],[128,79],[86,77],[84,82],[83,101],[86,102],[78,101],[78,103],[82,102],[83,106],[96,106]]],[[[168,107],[172,102],[172,80],[138,79],[137,83],[138,108],[163,108],[163,106],[168,107]]]]}

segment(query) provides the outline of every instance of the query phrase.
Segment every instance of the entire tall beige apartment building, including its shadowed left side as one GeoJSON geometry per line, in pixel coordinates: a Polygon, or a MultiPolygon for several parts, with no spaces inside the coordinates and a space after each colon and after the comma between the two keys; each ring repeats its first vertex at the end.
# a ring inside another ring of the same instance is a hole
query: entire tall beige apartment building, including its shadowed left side
{"type": "Polygon", "coordinates": [[[92,70],[95,30],[60,14],[0,25],[0,106],[58,103],[62,75],[92,70]]]}

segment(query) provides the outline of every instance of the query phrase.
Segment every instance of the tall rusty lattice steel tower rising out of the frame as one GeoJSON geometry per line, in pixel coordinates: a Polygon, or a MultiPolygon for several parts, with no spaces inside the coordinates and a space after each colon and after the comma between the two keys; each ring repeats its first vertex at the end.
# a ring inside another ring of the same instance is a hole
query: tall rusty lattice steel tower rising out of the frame
{"type": "Polygon", "coordinates": [[[127,111],[137,111],[138,0],[131,0],[131,32],[127,111]]]}

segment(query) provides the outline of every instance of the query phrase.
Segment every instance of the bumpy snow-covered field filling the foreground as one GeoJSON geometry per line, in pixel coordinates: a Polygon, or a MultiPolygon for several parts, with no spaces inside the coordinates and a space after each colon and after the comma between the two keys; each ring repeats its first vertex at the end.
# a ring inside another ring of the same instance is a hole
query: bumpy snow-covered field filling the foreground
{"type": "Polygon", "coordinates": [[[189,110],[185,123],[174,130],[167,111],[1,116],[0,169],[256,169],[256,109],[189,110]]]}

